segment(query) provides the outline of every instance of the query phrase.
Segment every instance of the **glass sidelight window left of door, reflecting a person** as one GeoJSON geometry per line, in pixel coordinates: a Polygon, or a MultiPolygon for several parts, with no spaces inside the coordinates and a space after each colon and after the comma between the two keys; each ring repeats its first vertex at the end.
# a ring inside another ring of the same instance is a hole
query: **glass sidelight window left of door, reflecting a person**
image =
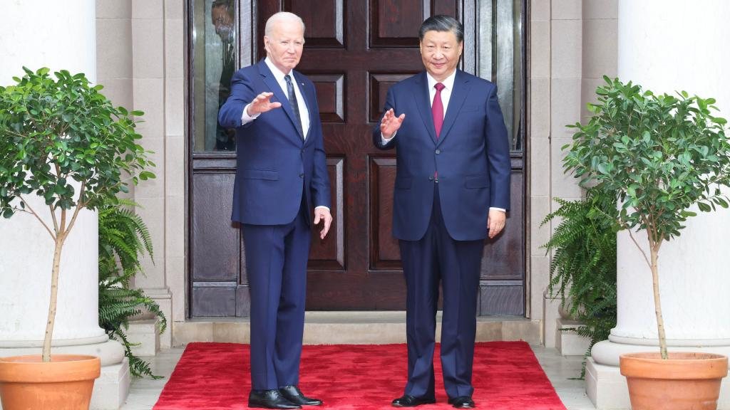
{"type": "Polygon", "coordinates": [[[218,109],[230,94],[236,69],[235,0],[193,0],[194,152],[236,150],[234,130],[218,124],[218,109]]]}

